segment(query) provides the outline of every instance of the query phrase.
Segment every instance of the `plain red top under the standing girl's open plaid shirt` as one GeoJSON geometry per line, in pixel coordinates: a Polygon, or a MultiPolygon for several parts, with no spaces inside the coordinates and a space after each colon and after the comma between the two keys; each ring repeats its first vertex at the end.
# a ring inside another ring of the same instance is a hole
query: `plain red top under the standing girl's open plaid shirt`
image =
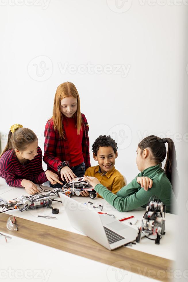
{"type": "Polygon", "coordinates": [[[77,135],[77,128],[75,126],[76,120],[74,118],[64,117],[63,127],[67,137],[72,166],[79,165],[84,161],[82,152],[83,125],[79,135],[77,135]]]}

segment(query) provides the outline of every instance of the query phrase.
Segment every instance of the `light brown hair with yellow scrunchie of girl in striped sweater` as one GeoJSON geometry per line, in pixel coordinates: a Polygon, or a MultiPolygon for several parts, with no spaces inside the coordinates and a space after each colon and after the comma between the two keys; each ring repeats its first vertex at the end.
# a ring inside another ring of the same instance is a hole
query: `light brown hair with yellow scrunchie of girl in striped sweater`
{"type": "Polygon", "coordinates": [[[12,125],[8,134],[7,145],[0,157],[10,149],[24,151],[27,146],[35,140],[37,140],[37,136],[31,129],[19,124],[12,125]]]}

